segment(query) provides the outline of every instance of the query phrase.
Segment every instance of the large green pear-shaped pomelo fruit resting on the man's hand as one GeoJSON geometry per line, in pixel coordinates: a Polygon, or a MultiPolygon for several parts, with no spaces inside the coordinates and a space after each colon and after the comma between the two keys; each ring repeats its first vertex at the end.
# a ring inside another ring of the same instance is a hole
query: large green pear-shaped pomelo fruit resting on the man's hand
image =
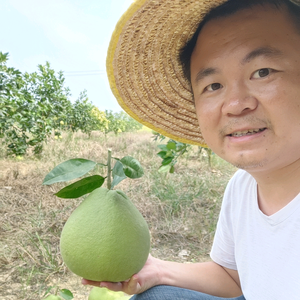
{"type": "Polygon", "coordinates": [[[148,225],[122,191],[98,188],[67,220],[60,250],[66,266],[85,279],[125,281],[148,258],[148,225]]]}

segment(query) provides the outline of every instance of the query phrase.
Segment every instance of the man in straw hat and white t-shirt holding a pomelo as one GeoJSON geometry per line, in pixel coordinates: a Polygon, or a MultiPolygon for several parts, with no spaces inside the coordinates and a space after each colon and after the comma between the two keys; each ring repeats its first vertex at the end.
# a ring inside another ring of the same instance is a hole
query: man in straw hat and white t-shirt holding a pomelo
{"type": "Polygon", "coordinates": [[[131,27],[117,33],[108,62],[112,89],[133,117],[172,138],[205,141],[242,169],[224,195],[212,261],[150,256],[127,282],[83,283],[137,294],[132,299],[300,299],[300,8],[295,0],[206,2],[135,2],[140,18],[151,17],[136,23],[131,10],[122,19],[131,27]],[[195,19],[198,29],[189,25],[195,19]],[[169,26],[166,38],[149,29],[171,23],[176,28],[169,26]],[[182,74],[191,84],[198,135],[182,74]]]}

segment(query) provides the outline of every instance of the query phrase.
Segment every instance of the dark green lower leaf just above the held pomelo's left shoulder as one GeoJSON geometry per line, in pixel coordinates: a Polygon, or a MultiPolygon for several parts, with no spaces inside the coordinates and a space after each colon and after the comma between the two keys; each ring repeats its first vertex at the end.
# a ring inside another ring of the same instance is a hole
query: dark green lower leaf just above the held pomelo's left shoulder
{"type": "Polygon", "coordinates": [[[64,199],[78,198],[103,185],[105,178],[99,175],[83,178],[73,184],[70,184],[55,195],[64,199]]]}

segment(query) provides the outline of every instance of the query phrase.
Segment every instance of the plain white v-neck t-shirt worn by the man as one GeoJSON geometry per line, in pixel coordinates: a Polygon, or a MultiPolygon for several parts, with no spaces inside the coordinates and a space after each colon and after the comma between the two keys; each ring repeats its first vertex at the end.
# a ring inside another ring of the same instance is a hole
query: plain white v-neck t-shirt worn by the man
{"type": "Polygon", "coordinates": [[[224,194],[211,258],[238,270],[246,300],[299,300],[300,194],[266,216],[256,181],[237,171],[224,194]]]}

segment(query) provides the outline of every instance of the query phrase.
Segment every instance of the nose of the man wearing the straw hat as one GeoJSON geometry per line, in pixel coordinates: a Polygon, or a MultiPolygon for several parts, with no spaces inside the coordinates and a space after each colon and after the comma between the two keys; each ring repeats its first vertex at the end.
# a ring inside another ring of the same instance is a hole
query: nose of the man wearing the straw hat
{"type": "Polygon", "coordinates": [[[244,85],[228,88],[222,105],[224,115],[241,115],[251,112],[258,105],[257,98],[244,85]]]}

